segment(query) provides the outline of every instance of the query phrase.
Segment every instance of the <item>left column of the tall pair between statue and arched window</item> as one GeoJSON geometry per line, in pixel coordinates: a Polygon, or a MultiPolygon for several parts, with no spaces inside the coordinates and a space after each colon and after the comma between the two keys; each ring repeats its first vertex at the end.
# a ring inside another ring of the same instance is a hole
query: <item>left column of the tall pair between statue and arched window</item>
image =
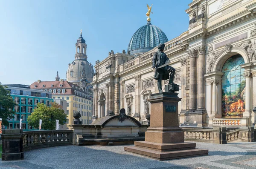
{"type": "Polygon", "coordinates": [[[189,110],[196,110],[196,54],[197,50],[189,50],[189,110]]]}

